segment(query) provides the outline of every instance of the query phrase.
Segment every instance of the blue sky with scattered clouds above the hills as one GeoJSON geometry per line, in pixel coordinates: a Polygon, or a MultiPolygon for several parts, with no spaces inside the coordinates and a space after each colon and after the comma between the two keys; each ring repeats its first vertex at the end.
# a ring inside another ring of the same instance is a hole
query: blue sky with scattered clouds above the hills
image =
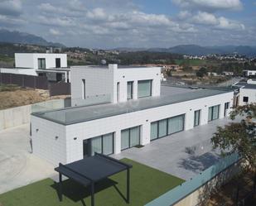
{"type": "Polygon", "coordinates": [[[256,0],[0,0],[0,28],[88,48],[256,45],[256,0]]]}

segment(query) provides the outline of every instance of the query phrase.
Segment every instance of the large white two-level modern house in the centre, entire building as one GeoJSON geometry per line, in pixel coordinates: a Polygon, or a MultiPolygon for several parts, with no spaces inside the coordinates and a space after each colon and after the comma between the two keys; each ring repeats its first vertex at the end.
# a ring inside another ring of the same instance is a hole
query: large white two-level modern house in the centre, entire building
{"type": "Polygon", "coordinates": [[[158,67],[80,66],[71,72],[74,107],[31,115],[33,152],[54,165],[171,138],[227,116],[233,102],[230,90],[162,87],[158,67]],[[92,95],[109,95],[109,103],[83,105],[92,95]]]}

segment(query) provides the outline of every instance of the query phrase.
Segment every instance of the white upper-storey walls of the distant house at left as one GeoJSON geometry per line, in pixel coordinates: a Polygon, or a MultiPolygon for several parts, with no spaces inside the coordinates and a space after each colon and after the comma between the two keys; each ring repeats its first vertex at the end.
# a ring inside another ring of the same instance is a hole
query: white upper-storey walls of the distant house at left
{"type": "Polygon", "coordinates": [[[53,53],[16,53],[15,66],[38,69],[38,58],[46,59],[46,69],[56,68],[56,58],[60,58],[60,67],[67,67],[67,55],[53,53]]]}

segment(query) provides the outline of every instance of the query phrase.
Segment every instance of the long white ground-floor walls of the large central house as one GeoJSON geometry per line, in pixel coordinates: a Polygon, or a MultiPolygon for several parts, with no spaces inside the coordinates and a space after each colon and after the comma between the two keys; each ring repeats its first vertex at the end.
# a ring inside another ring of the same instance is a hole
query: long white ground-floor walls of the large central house
{"type": "MultiPolygon", "coordinates": [[[[208,122],[208,108],[211,106],[220,105],[220,118],[224,117],[224,107],[226,102],[233,102],[233,92],[223,93],[220,95],[215,95],[207,98],[199,98],[187,102],[175,103],[167,106],[162,106],[158,108],[150,108],[134,113],[125,113],[118,116],[101,118],[89,122],[80,122],[72,125],[68,125],[65,129],[61,126],[61,132],[65,131],[63,138],[66,137],[66,156],[61,149],[61,154],[64,154],[63,158],[60,156],[55,156],[52,154],[52,151],[41,151],[38,152],[37,149],[34,150],[35,153],[42,156],[43,152],[49,152],[51,154],[51,161],[55,164],[60,160],[62,163],[72,162],[75,160],[80,160],[83,158],[83,140],[89,139],[92,137],[97,137],[99,135],[104,135],[109,132],[114,132],[114,152],[119,153],[121,151],[121,130],[129,127],[141,127],[141,144],[146,145],[150,143],[150,123],[157,120],[161,120],[168,117],[174,117],[180,114],[186,114],[185,120],[185,130],[193,128],[194,124],[194,112],[198,109],[201,109],[200,125],[204,125],[208,122]],[[76,139],[74,139],[76,138],[76,139]]],[[[36,127],[40,128],[41,138],[44,138],[51,145],[52,148],[60,149],[58,141],[52,141],[52,138],[55,136],[55,133],[60,130],[60,125],[49,122],[45,123],[45,120],[36,118],[36,121],[33,122],[33,130],[36,127]],[[42,123],[43,122],[43,123],[42,123]],[[51,128],[51,132],[49,132],[51,128]]],[[[64,126],[63,126],[64,127],[64,126]]],[[[47,147],[47,143],[41,145],[38,143],[39,138],[33,135],[33,141],[36,145],[41,147],[47,147]]],[[[42,140],[40,140],[42,141],[42,140]]],[[[43,157],[46,155],[44,154],[43,157]]],[[[48,155],[47,155],[48,156],[48,155]]],[[[46,157],[47,159],[48,157],[46,157]]]]}

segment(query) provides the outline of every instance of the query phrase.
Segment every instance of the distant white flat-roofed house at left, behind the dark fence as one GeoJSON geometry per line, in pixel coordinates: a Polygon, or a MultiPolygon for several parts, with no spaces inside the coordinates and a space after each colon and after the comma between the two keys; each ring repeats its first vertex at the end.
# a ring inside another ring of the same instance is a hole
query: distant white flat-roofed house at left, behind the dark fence
{"type": "Polygon", "coordinates": [[[70,79],[67,55],[54,53],[15,53],[15,68],[0,68],[0,73],[47,75],[49,80],[70,79]]]}

